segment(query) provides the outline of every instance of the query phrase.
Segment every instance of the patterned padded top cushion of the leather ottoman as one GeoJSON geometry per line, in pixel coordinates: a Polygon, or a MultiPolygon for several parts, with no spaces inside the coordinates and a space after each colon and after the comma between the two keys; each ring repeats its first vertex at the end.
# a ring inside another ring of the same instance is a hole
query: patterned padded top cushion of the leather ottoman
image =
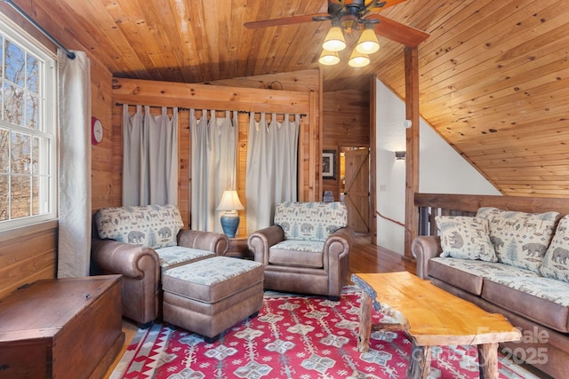
{"type": "Polygon", "coordinates": [[[164,272],[164,291],[212,304],[264,278],[263,265],[233,257],[211,257],[164,272]]]}

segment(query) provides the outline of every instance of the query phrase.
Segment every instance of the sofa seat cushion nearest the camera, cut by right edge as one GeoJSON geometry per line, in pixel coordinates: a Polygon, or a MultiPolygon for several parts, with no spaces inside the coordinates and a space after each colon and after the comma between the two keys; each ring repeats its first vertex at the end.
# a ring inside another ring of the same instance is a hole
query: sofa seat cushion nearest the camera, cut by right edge
{"type": "Polygon", "coordinates": [[[484,280],[482,297],[543,326],[569,332],[569,283],[494,275],[484,280]]]}

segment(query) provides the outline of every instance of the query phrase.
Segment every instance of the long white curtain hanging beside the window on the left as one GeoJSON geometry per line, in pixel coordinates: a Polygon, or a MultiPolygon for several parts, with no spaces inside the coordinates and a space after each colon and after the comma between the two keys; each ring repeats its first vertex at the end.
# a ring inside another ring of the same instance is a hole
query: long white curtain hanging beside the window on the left
{"type": "Polygon", "coordinates": [[[85,53],[74,52],[58,50],[58,278],[88,276],[91,258],[91,73],[85,53]]]}

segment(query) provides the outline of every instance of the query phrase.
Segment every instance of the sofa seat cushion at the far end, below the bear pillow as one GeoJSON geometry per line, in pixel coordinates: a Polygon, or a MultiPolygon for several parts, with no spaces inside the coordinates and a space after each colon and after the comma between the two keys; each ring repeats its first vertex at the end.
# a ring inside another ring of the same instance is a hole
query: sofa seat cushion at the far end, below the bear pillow
{"type": "Polygon", "coordinates": [[[535,272],[494,262],[453,257],[436,257],[429,260],[429,276],[476,296],[482,294],[484,277],[493,274],[539,277],[535,272]]]}

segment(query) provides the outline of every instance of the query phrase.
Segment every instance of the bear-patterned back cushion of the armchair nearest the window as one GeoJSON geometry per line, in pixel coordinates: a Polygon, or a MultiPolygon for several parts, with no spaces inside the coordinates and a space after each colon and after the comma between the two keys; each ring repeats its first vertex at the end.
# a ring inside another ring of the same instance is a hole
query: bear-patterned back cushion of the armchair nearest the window
{"type": "Polygon", "coordinates": [[[174,205],[102,208],[97,211],[95,222],[102,239],[152,249],[176,246],[178,232],[184,225],[180,210],[174,205]]]}

